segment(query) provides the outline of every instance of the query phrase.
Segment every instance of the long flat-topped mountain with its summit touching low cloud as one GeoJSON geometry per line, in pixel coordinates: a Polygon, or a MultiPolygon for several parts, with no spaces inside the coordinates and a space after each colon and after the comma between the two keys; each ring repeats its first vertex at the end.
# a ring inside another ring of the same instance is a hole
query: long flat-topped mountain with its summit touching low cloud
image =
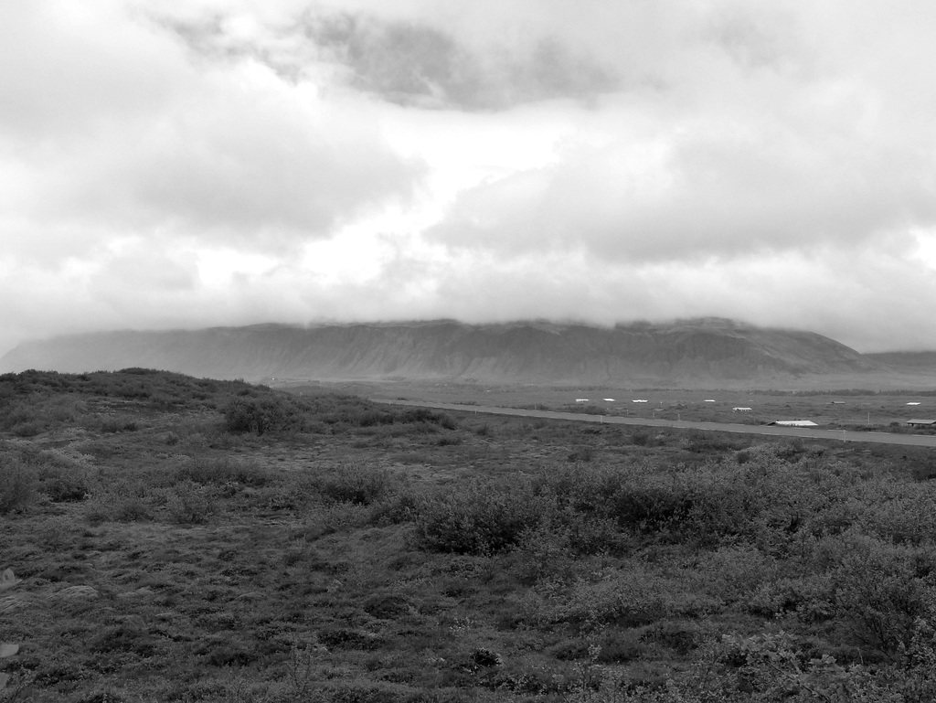
{"type": "Polygon", "coordinates": [[[872,373],[882,362],[808,331],[721,318],[613,328],[450,320],[112,331],[20,344],[0,370],[137,366],[218,379],[451,380],[481,383],[769,383],[872,373]]]}

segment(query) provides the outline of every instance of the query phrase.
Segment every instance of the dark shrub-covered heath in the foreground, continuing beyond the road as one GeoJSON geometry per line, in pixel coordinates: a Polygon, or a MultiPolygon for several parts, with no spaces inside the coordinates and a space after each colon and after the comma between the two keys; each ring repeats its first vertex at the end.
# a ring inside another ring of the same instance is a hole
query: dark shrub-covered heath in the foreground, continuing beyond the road
{"type": "Polygon", "coordinates": [[[0,700],[936,698],[929,451],[335,389],[0,376],[0,700]]]}

